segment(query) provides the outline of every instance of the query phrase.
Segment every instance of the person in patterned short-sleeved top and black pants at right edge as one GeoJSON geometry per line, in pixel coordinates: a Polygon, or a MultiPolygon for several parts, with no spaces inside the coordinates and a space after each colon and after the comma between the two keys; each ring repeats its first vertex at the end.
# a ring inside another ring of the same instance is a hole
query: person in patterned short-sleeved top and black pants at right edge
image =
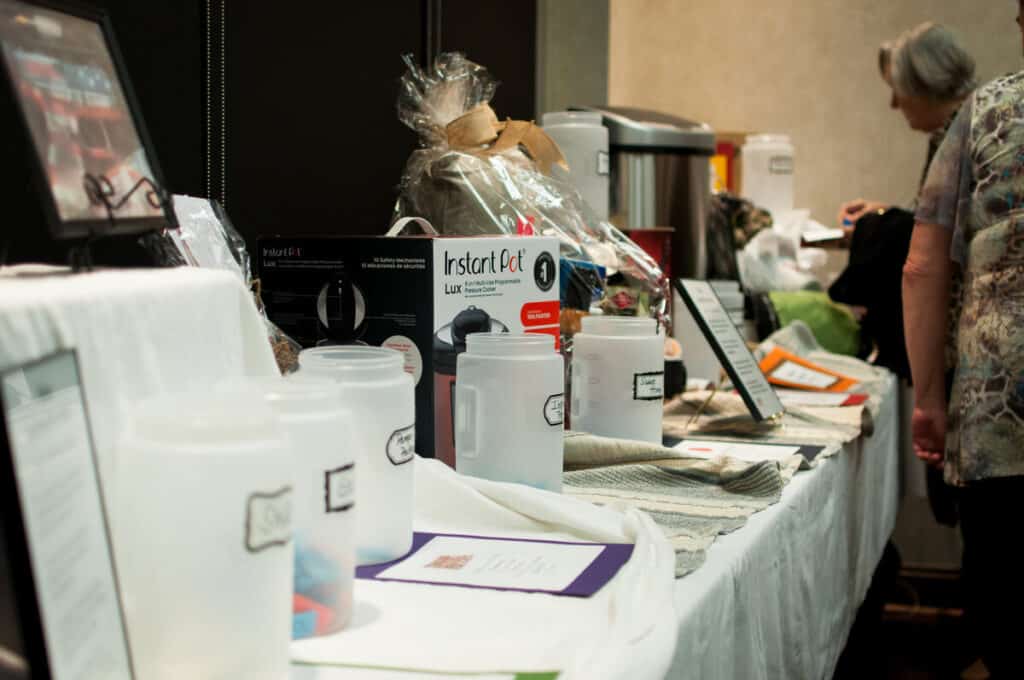
{"type": "MultiPolygon", "coordinates": [[[[1017,24],[1024,34],[1024,2],[1017,24]]],[[[991,678],[1024,678],[1022,178],[1024,71],[982,85],[964,103],[921,190],[903,267],[913,445],[958,488],[965,613],[991,678]],[[957,268],[956,371],[947,394],[942,343],[957,268]]]]}

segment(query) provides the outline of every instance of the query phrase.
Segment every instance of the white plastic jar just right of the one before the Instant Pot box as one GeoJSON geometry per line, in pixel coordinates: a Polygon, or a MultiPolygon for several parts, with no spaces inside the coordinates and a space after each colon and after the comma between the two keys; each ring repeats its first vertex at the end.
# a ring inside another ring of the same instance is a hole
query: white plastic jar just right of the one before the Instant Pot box
{"type": "Polygon", "coordinates": [[[664,395],[665,332],[655,320],[584,316],[572,339],[572,429],[660,443],[664,395]]]}

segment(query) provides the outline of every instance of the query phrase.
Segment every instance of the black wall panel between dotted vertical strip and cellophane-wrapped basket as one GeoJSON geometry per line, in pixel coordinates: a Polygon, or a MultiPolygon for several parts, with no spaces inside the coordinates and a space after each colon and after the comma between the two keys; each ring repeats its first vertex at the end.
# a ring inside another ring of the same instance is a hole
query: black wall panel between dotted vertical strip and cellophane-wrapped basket
{"type": "Polygon", "coordinates": [[[416,145],[395,97],[400,55],[423,58],[424,5],[286,6],[227,5],[227,212],[251,245],[259,235],[382,232],[416,145]]]}

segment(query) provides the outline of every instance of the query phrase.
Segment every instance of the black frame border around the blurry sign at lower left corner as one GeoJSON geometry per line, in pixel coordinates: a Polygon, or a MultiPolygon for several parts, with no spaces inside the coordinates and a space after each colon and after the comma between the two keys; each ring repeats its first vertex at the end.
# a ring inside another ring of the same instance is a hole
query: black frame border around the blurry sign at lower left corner
{"type": "MultiPolygon", "coordinates": [[[[86,398],[85,385],[82,384],[82,369],[78,360],[78,350],[74,348],[56,349],[35,359],[15,364],[0,369],[0,383],[15,371],[53,360],[70,354],[75,365],[79,390],[82,393],[82,414],[85,419],[85,434],[88,439],[89,455],[96,478],[96,493],[99,497],[99,511],[103,519],[103,535],[106,538],[106,551],[111,559],[111,572],[114,578],[114,592],[118,598],[118,618],[121,620],[121,630],[124,633],[125,654],[128,660],[128,671],[136,678],[135,660],[132,656],[131,637],[128,633],[128,622],[125,621],[124,599],[121,593],[121,579],[118,575],[117,560],[114,555],[114,542],[111,536],[110,516],[106,511],[106,498],[103,494],[103,483],[99,474],[99,461],[96,458],[95,438],[92,434],[92,421],[89,418],[89,403],[86,398]]],[[[17,484],[17,473],[14,471],[14,454],[11,451],[10,432],[7,427],[6,406],[3,390],[0,389],[0,527],[5,533],[7,556],[10,575],[13,583],[11,591],[17,606],[18,628],[22,644],[25,646],[24,657],[29,665],[29,676],[33,680],[52,678],[49,654],[46,651],[46,633],[43,629],[42,612],[39,607],[39,590],[36,587],[36,577],[32,568],[32,552],[29,550],[29,536],[22,515],[22,495],[17,484]]]]}

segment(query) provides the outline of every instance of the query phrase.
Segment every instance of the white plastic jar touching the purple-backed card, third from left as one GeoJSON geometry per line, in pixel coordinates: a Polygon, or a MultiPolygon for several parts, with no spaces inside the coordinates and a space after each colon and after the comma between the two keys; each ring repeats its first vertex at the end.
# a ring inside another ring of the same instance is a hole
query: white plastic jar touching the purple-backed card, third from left
{"type": "Polygon", "coordinates": [[[351,414],[359,483],[355,487],[355,562],[401,557],[413,545],[413,458],[416,398],[400,352],[338,345],[304,349],[300,375],[321,375],[341,386],[351,414]]]}

